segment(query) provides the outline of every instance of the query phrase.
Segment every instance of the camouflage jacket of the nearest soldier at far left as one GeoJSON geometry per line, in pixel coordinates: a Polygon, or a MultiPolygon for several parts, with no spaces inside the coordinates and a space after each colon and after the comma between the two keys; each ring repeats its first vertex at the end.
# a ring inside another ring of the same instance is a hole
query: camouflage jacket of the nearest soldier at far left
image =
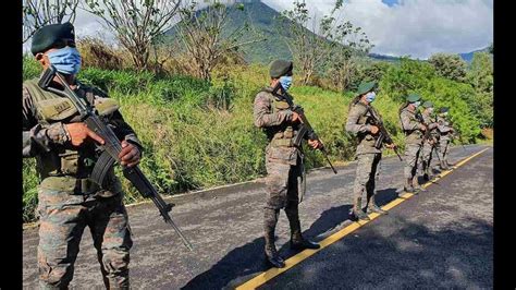
{"type": "MultiPolygon", "coordinates": [[[[88,179],[99,157],[95,144],[85,142],[81,147],[72,146],[64,126],[78,122],[78,112],[67,102],[67,98],[42,90],[37,82],[38,78],[34,78],[23,83],[23,157],[36,158],[41,181],[49,177],[54,180],[65,177],[70,181],[88,179]]],[[[79,82],[75,92],[93,104],[121,141],[126,140],[143,149],[135,132],[118,110],[115,100],[108,98],[100,89],[79,82]]],[[[115,181],[113,169],[108,177],[115,181]]]]}

